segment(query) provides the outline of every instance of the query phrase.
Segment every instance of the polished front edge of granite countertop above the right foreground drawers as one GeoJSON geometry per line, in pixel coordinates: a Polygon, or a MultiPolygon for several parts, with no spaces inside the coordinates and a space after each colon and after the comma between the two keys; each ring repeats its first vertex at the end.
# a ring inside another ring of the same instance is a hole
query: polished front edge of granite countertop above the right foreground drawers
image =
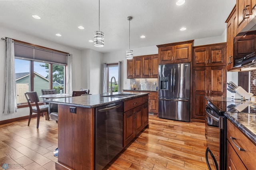
{"type": "Polygon", "coordinates": [[[250,129],[248,129],[247,127],[242,125],[242,123],[240,123],[234,117],[232,117],[229,114],[229,112],[225,112],[224,116],[226,116],[228,120],[230,120],[232,123],[234,123],[234,125],[236,125],[236,127],[238,127],[240,130],[242,130],[242,132],[244,132],[244,134],[246,134],[246,136],[248,138],[250,138],[256,144],[256,134],[254,134],[254,132],[252,132],[250,129]]]}

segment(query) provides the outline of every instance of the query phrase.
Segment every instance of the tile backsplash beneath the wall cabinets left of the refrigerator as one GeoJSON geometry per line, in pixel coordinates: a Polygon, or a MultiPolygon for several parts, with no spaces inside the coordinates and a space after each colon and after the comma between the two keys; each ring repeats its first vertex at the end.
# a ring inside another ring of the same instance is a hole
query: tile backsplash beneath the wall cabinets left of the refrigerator
{"type": "Polygon", "coordinates": [[[158,87],[158,79],[150,78],[150,79],[130,79],[130,87],[131,89],[134,87],[136,90],[156,90],[158,87]],[[155,84],[154,84],[155,83],[155,84]]]}

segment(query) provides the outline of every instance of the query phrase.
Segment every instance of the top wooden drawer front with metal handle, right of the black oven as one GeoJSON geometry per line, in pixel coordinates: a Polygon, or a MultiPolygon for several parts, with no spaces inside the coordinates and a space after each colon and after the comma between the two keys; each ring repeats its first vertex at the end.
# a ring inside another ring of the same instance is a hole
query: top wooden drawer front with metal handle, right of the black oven
{"type": "Polygon", "coordinates": [[[256,146],[233,123],[227,120],[227,139],[247,169],[255,168],[256,146]],[[232,137],[232,139],[230,138],[232,137]],[[239,150],[239,148],[240,150],[239,150]]]}

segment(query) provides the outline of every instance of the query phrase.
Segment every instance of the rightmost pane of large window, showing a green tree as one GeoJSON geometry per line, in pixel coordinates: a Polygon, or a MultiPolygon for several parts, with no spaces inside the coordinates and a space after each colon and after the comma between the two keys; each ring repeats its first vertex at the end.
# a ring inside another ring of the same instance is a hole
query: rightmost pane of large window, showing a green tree
{"type": "Polygon", "coordinates": [[[57,93],[60,93],[60,90],[65,91],[64,69],[64,65],[52,64],[52,89],[57,89],[57,93]]]}

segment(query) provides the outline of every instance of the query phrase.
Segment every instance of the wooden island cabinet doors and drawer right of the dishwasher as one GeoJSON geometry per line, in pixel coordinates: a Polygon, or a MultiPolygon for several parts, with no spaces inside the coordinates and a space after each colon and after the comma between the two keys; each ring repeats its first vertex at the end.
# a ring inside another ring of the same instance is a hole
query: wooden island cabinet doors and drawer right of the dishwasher
{"type": "Polygon", "coordinates": [[[124,147],[148,125],[148,97],[124,102],[124,147]]]}

